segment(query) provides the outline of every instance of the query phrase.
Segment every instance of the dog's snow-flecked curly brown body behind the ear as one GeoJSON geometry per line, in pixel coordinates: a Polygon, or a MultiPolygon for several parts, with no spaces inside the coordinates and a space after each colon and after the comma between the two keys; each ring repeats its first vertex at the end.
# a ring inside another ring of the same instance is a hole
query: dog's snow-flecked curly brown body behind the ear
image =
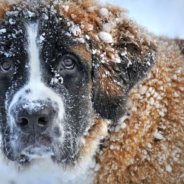
{"type": "Polygon", "coordinates": [[[175,40],[158,38],[157,51],[149,76],[131,91],[127,114],[99,155],[97,183],[184,181],[183,57],[175,40]]]}

